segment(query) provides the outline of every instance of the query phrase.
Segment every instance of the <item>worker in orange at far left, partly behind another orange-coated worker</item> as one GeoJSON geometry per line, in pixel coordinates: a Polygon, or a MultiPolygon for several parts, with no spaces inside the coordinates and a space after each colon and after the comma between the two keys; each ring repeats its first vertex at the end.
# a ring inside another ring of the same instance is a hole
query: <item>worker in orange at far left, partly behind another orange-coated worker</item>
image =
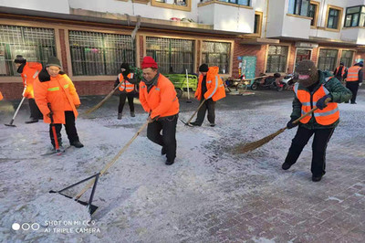
{"type": "Polygon", "coordinates": [[[40,70],[42,69],[42,64],[38,62],[27,62],[22,55],[16,55],[14,60],[17,67],[17,72],[20,73],[23,79],[24,91],[23,96],[28,99],[29,109],[30,109],[30,120],[26,123],[38,122],[42,118],[42,113],[36,106],[36,100],[34,99],[33,83],[38,76],[40,70]]]}

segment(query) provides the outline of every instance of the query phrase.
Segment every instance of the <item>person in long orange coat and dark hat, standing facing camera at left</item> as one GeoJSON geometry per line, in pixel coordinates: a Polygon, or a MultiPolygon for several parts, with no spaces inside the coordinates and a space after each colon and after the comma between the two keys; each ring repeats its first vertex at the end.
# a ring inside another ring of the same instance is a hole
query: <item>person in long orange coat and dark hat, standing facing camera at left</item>
{"type": "MultiPolygon", "coordinates": [[[[48,58],[46,69],[42,69],[39,73],[34,88],[36,104],[44,115],[44,122],[51,123],[50,115],[53,116],[60,150],[65,150],[62,147],[61,139],[62,124],[68,134],[69,144],[82,148],[84,145],[79,142],[75,124],[78,117],[77,108],[81,103],[74,84],[68,75],[61,71],[61,64],[56,57],[48,58]]],[[[49,136],[55,148],[51,124],[49,125],[49,136]]]]}

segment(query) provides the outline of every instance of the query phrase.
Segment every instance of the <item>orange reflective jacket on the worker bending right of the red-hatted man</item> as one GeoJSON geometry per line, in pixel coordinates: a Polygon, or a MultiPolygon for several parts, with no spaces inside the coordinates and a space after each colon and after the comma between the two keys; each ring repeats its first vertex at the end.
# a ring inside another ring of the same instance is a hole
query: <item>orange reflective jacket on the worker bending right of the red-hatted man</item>
{"type": "MultiPolygon", "coordinates": [[[[221,100],[225,97],[224,83],[218,75],[219,68],[211,67],[206,73],[206,89],[207,91],[203,94],[204,99],[208,100],[221,100]]],[[[202,80],[203,75],[199,76],[198,88],[195,91],[195,98],[197,100],[202,100],[202,80]]]]}

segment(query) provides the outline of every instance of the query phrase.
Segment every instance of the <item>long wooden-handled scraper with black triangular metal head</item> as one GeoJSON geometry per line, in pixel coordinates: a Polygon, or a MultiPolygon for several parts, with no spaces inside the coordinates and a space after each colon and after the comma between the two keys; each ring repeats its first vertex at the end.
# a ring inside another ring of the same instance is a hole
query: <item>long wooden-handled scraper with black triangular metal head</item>
{"type": "MultiPolygon", "coordinates": [[[[128,149],[128,147],[130,146],[130,144],[138,137],[138,135],[143,131],[143,129],[148,125],[148,123],[149,122],[147,121],[147,122],[145,122],[141,126],[140,130],[134,134],[134,136],[130,139],[130,141],[120,150],[119,153],[117,153],[114,156],[114,158],[110,161],[110,163],[108,163],[107,165],[105,165],[105,167],[98,174],[94,174],[94,175],[92,175],[92,176],[90,176],[90,177],[88,177],[88,178],[86,178],[86,179],[84,179],[82,181],[79,181],[76,184],[69,185],[68,187],[66,187],[66,188],[64,188],[64,189],[62,189],[60,191],[50,191],[49,193],[58,193],[60,195],[64,195],[64,194],[62,194],[63,191],[68,190],[69,188],[74,187],[75,185],[79,185],[81,183],[84,183],[84,182],[90,180],[89,181],[89,184],[88,185],[85,185],[82,188],[82,190],[78,193],[78,195],[76,195],[73,199],[75,201],[77,201],[78,203],[80,203],[81,205],[88,206],[89,213],[90,213],[90,215],[92,215],[97,210],[97,208],[98,208],[98,206],[92,205],[92,199],[93,199],[93,196],[94,196],[94,193],[95,193],[95,189],[96,189],[96,186],[97,186],[97,183],[98,183],[99,176],[101,176],[102,174],[105,174],[107,172],[107,170],[111,167],[111,165],[113,165],[113,164],[115,164],[117,162],[117,160],[120,157],[121,153],[124,153],[128,149]],[[89,203],[86,203],[86,202],[83,202],[83,201],[78,200],[81,197],[81,195],[84,195],[86,193],[86,191],[89,190],[89,188],[91,186],[92,186],[92,191],[91,191],[91,195],[89,197],[89,203]]],[[[67,196],[68,198],[72,198],[72,197],[70,197],[68,195],[65,195],[65,196],[67,196]]]]}

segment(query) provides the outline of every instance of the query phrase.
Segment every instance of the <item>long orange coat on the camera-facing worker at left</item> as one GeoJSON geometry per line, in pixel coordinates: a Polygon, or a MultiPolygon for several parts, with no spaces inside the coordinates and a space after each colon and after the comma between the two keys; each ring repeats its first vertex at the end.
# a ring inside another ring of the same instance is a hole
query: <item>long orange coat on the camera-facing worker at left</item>
{"type": "Polygon", "coordinates": [[[44,82],[36,79],[34,88],[36,105],[43,114],[44,122],[51,122],[47,117],[50,112],[47,103],[51,103],[55,123],[66,123],[65,111],[74,111],[75,119],[78,117],[75,105],[79,105],[80,100],[74,84],[66,74],[58,74],[57,77],[51,77],[49,81],[44,82]]]}

